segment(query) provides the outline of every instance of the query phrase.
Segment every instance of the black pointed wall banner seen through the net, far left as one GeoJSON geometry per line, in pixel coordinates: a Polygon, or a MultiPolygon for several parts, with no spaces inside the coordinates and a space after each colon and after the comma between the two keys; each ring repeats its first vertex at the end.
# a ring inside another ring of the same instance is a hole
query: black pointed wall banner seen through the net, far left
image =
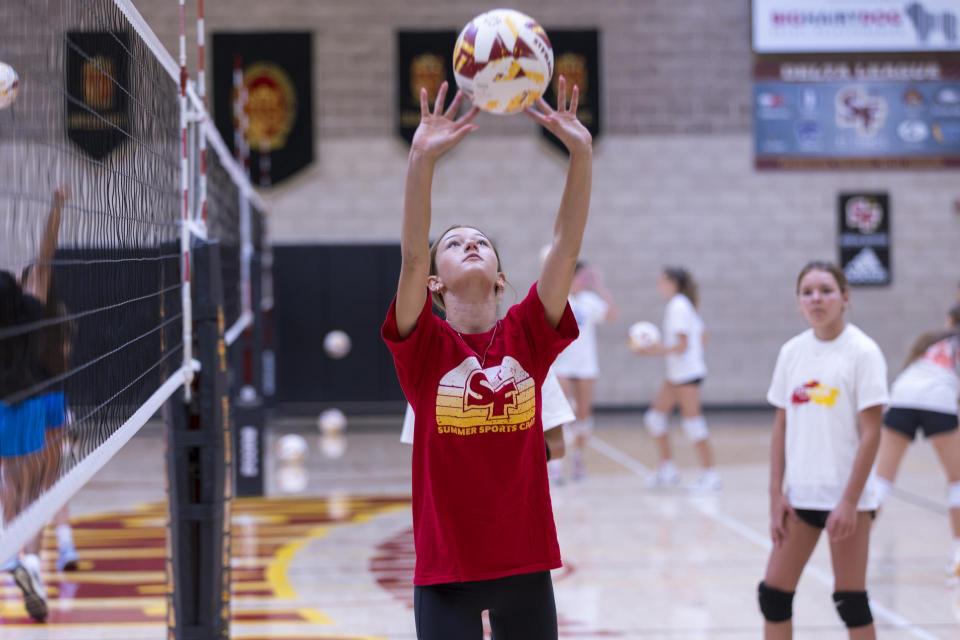
{"type": "Polygon", "coordinates": [[[66,37],[67,137],[103,160],[131,135],[129,38],[109,31],[68,31],[66,37]]]}

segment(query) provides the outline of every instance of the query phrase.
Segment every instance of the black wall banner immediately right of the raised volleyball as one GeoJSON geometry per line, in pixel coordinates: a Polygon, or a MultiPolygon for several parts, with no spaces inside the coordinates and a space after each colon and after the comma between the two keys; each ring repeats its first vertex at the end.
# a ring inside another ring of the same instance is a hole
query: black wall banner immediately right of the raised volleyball
{"type": "MultiPolygon", "coordinates": [[[[593,139],[600,135],[600,36],[596,29],[572,31],[547,29],[553,45],[553,78],[543,96],[551,107],[557,106],[557,83],[562,74],[567,79],[567,99],[573,86],[580,87],[577,118],[593,139]]],[[[566,153],[566,147],[552,133],[540,127],[543,136],[566,153]]]]}

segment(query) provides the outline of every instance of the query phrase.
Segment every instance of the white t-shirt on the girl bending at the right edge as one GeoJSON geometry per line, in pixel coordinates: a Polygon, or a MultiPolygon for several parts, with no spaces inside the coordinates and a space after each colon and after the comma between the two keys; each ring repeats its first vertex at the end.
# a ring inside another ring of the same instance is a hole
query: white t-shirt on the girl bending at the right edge
{"type": "Polygon", "coordinates": [[[936,342],[893,381],[890,406],[957,413],[960,339],[936,342]]]}

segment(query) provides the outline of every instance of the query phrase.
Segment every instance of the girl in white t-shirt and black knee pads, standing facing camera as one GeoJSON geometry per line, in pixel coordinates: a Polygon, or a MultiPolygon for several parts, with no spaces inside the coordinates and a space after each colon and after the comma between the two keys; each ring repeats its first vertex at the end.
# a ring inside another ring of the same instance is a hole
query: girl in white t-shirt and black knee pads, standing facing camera
{"type": "Polygon", "coordinates": [[[770,449],[774,546],[759,586],[764,637],[792,637],[793,594],[826,529],[837,613],[850,638],[872,639],[867,551],[879,496],[870,469],[889,399],[887,366],[877,344],[844,319],[843,271],[807,264],[797,298],[810,329],[780,349],[767,393],[777,413],[770,449]]]}

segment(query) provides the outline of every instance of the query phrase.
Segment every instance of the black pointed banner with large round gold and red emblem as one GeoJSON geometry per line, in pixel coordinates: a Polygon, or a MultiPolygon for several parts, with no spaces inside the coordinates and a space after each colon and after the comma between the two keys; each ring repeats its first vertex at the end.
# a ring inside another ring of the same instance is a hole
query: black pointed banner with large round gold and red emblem
{"type": "Polygon", "coordinates": [[[235,57],[248,96],[250,178],[254,184],[274,185],[313,162],[311,34],[213,34],[214,120],[234,152],[235,57]]]}

